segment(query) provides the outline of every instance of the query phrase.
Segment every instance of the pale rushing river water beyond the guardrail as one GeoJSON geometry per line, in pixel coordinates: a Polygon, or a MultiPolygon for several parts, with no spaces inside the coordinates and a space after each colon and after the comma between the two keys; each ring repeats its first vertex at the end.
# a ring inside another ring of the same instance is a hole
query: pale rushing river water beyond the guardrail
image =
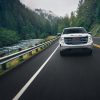
{"type": "Polygon", "coordinates": [[[43,39],[30,39],[30,40],[21,40],[18,44],[0,48],[0,57],[18,52],[19,50],[25,50],[30,47],[34,47],[36,44],[42,42],[43,39]]]}

